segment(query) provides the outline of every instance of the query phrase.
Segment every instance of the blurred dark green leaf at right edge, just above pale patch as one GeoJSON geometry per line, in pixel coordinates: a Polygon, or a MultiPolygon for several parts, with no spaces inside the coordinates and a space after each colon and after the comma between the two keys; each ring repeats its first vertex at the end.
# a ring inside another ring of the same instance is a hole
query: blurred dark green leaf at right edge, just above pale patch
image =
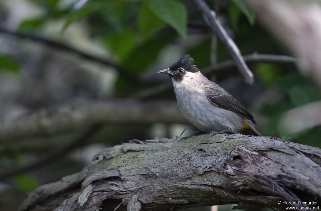
{"type": "Polygon", "coordinates": [[[295,106],[302,106],[309,102],[321,100],[319,90],[311,86],[292,87],[289,91],[289,97],[295,106]]]}

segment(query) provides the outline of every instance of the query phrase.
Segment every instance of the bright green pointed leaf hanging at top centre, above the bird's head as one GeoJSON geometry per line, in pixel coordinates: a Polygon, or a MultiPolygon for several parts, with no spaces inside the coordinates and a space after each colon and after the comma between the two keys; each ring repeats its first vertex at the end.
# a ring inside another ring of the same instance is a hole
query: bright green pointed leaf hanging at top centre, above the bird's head
{"type": "Polygon", "coordinates": [[[175,0],[151,0],[149,8],[162,21],[173,27],[177,33],[187,36],[187,12],[185,6],[175,0]]]}

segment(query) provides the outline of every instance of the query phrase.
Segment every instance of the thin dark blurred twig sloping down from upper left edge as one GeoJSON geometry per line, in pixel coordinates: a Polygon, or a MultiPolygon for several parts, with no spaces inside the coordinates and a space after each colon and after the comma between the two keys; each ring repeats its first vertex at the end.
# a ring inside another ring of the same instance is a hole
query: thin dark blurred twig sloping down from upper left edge
{"type": "Polygon", "coordinates": [[[81,51],[79,49],[76,49],[76,48],[66,44],[66,43],[58,42],[58,41],[55,41],[55,40],[52,40],[52,39],[44,38],[44,37],[41,37],[41,36],[38,36],[38,35],[26,33],[26,32],[12,31],[12,30],[8,30],[8,29],[4,29],[2,27],[0,27],[0,33],[13,35],[13,36],[16,36],[16,37],[19,37],[19,38],[29,39],[29,40],[32,40],[32,41],[36,41],[36,42],[39,42],[39,43],[46,44],[46,45],[48,45],[50,47],[54,47],[54,48],[57,48],[57,49],[60,49],[60,50],[68,51],[68,52],[72,52],[72,53],[74,53],[74,54],[76,54],[76,55],[78,55],[78,56],[80,56],[80,57],[82,57],[84,59],[91,60],[91,61],[94,61],[94,62],[98,62],[98,63],[104,64],[106,66],[115,68],[126,79],[129,79],[131,81],[132,80],[137,80],[137,76],[132,74],[129,70],[126,70],[124,67],[121,67],[121,66],[113,63],[112,61],[108,60],[108,59],[101,58],[99,56],[94,56],[94,55],[88,54],[86,52],[83,52],[83,51],[81,51]]]}

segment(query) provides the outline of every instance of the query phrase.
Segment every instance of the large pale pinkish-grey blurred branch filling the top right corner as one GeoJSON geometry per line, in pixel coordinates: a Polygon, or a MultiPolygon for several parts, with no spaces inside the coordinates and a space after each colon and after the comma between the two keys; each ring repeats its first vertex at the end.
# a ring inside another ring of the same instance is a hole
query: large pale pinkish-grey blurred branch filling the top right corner
{"type": "Polygon", "coordinates": [[[301,73],[321,89],[320,2],[246,1],[259,21],[299,58],[301,73]]]}

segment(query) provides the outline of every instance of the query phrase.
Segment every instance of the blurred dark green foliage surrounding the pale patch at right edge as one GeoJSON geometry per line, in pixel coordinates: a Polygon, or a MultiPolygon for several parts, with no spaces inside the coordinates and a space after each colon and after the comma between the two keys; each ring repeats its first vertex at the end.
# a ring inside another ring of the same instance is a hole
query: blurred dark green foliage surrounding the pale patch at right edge
{"type": "MultiPolygon", "coordinates": [[[[272,70],[272,69],[271,69],[272,70]]],[[[280,70],[281,71],[281,70],[280,70]]],[[[279,74],[280,74],[280,71],[279,74]]],[[[265,77],[265,80],[269,77],[265,77]]],[[[320,91],[298,72],[283,73],[271,81],[271,87],[281,93],[275,104],[266,104],[260,110],[268,120],[262,128],[262,134],[273,135],[302,144],[320,147],[320,126],[296,134],[286,134],[279,128],[282,115],[292,108],[321,100],[320,91]]]]}

